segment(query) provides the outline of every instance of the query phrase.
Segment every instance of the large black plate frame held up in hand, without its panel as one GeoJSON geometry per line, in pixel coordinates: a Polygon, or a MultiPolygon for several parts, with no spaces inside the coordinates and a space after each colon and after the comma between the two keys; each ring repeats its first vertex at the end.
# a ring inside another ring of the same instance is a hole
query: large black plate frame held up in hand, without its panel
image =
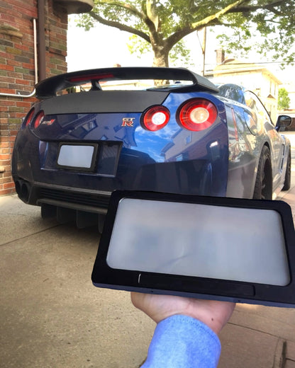
{"type": "Polygon", "coordinates": [[[106,215],[104,231],[101,234],[91,280],[96,287],[145,292],[148,294],[169,294],[200,299],[234,301],[238,303],[262,304],[267,306],[295,306],[295,232],[291,208],[285,202],[272,200],[245,200],[225,197],[199,197],[174,195],[159,192],[115,191],[106,215]],[[282,219],[286,255],[288,258],[290,282],[286,286],[257,284],[232,280],[217,280],[204,277],[164,275],[154,272],[117,270],[106,263],[108,246],[118,204],[123,198],[157,200],[169,202],[196,203],[202,205],[239,207],[251,209],[272,209],[282,219]]]}

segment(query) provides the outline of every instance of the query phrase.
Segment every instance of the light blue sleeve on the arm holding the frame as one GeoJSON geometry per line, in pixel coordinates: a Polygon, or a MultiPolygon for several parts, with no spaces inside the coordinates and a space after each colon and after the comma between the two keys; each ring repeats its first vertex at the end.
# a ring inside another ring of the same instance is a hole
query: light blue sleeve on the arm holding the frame
{"type": "Polygon", "coordinates": [[[216,368],[221,353],[217,335],[189,316],[171,316],[157,324],[141,368],[216,368]]]}

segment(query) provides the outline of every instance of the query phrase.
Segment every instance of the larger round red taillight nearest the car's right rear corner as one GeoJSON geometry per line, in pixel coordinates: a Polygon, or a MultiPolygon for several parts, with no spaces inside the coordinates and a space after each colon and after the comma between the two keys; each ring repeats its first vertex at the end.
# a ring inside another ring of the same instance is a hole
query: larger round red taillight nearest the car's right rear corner
{"type": "Polygon", "coordinates": [[[204,98],[189,100],[177,110],[177,122],[182,127],[194,132],[211,127],[216,117],[216,106],[204,98]]]}

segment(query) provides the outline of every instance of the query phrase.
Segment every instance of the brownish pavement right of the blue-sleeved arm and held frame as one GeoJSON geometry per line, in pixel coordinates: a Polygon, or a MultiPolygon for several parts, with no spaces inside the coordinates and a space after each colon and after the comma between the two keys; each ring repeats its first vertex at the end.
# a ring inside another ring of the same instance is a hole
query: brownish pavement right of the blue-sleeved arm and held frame
{"type": "MultiPolygon", "coordinates": [[[[278,199],[291,206],[295,218],[295,179],[292,183],[278,199]]],[[[218,368],[295,368],[295,309],[238,304],[221,345],[218,368]]]]}

